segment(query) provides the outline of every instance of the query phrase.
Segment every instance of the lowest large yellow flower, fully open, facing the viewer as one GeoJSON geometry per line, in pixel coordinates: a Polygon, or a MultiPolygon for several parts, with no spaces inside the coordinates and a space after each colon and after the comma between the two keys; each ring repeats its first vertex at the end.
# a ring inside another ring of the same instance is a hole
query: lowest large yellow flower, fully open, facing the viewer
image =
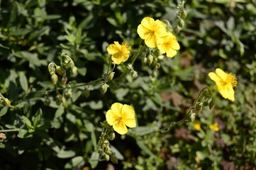
{"type": "Polygon", "coordinates": [[[135,111],[133,107],[121,103],[113,103],[111,109],[106,112],[106,121],[113,125],[113,130],[123,135],[128,132],[126,126],[135,128],[135,111]]]}

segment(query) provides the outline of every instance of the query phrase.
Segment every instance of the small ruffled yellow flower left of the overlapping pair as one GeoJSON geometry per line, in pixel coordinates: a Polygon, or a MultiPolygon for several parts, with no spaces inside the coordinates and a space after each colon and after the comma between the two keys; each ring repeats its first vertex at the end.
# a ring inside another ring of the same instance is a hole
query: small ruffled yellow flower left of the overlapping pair
{"type": "Polygon", "coordinates": [[[109,55],[112,55],[111,59],[115,64],[121,64],[121,62],[126,62],[130,54],[130,46],[126,42],[122,42],[120,45],[119,42],[114,41],[114,44],[109,45],[106,50],[109,55]]]}

